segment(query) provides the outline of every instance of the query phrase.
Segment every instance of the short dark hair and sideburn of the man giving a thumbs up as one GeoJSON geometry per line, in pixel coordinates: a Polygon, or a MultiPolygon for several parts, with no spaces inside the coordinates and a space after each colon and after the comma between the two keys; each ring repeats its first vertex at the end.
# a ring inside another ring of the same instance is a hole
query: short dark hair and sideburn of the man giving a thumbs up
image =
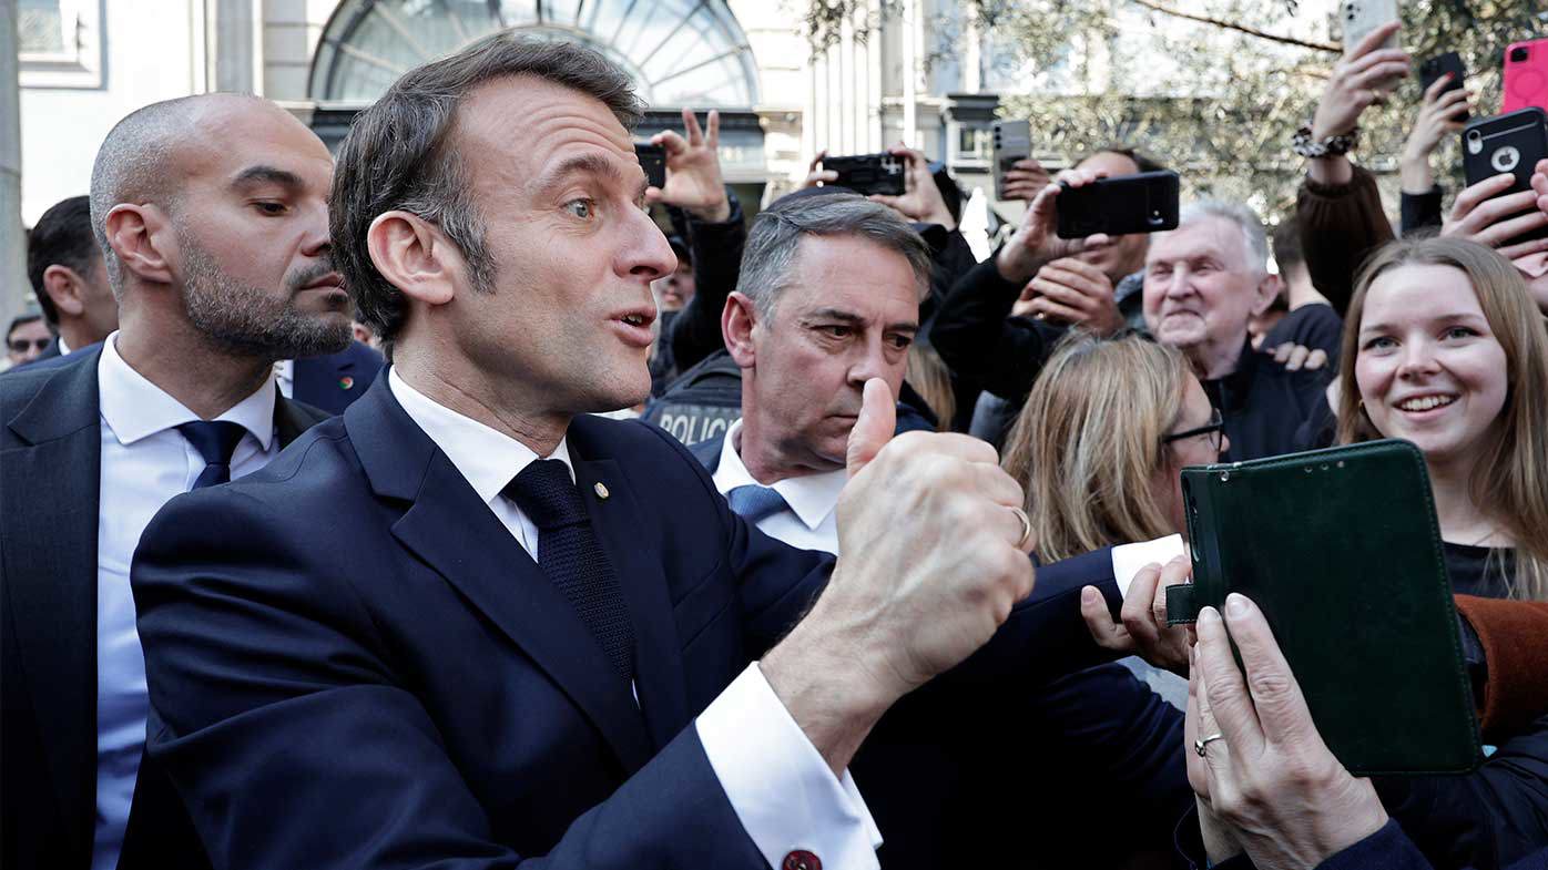
{"type": "MultiPolygon", "coordinates": [[[[511,76],[536,76],[604,102],[633,130],[644,115],[628,74],[570,42],[543,42],[509,31],[410,70],[361,111],[339,147],[333,172],[333,257],[361,317],[382,339],[402,327],[402,293],[372,263],[365,234],[378,215],[406,211],[441,228],[467,260],[478,291],[494,286],[483,221],[467,190],[452,135],[457,107],[474,88],[511,76]]],[[[512,119],[515,122],[517,119],[512,119]]]]}

